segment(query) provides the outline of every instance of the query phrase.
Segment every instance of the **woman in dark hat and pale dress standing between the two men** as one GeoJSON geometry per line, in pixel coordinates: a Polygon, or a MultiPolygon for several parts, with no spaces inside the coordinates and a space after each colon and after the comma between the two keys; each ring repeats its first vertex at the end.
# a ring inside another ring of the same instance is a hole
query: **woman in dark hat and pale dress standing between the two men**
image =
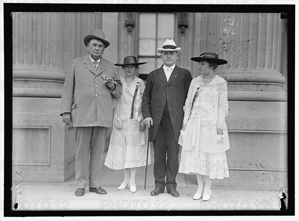
{"type": "MultiPolygon", "coordinates": [[[[105,165],[111,169],[124,170],[125,178],[118,190],[130,187],[135,193],[135,175],[137,167],[146,165],[148,133],[143,123],[142,96],[145,90],[145,83],[142,79],[134,76],[139,65],[148,62],[138,63],[134,56],[127,56],[122,66],[125,76],[120,76],[123,84],[123,95],[115,100],[116,112],[113,119],[113,130],[110,138],[110,145],[105,160],[105,165]]],[[[150,159],[150,153],[149,153],[150,159]]],[[[150,160],[148,161],[150,164],[150,160]]]]}

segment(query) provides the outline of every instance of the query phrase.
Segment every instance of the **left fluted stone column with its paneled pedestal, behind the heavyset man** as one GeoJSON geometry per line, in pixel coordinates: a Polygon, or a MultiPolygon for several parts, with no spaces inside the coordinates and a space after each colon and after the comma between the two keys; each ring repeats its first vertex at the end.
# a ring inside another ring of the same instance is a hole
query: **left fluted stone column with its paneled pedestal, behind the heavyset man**
{"type": "Polygon", "coordinates": [[[29,168],[26,181],[63,182],[75,163],[74,131],[59,115],[63,82],[101,13],[20,12],[12,23],[13,164],[29,168]]]}

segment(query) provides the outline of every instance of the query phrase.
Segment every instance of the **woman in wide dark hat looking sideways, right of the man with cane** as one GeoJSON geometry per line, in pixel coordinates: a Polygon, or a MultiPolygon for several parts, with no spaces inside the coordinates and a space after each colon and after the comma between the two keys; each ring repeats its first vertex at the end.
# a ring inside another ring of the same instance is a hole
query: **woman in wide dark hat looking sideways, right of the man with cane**
{"type": "Polygon", "coordinates": [[[195,174],[198,189],[194,200],[211,196],[211,180],[229,177],[225,151],[230,148],[225,117],[228,113],[227,82],[215,74],[227,61],[207,52],[191,58],[199,62],[199,73],[190,84],[184,106],[180,173],[195,174]],[[205,185],[203,178],[206,178],[205,185]]]}

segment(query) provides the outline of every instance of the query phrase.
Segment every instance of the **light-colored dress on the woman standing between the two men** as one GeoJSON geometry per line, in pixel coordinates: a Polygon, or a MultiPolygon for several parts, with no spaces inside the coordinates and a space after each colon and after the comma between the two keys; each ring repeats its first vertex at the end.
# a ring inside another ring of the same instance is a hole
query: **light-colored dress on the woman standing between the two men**
{"type": "MultiPolygon", "coordinates": [[[[145,167],[148,130],[139,130],[143,120],[141,104],[145,83],[137,77],[134,77],[132,83],[126,82],[124,76],[121,76],[120,79],[123,83],[123,95],[115,100],[116,112],[113,118],[113,130],[104,165],[115,170],[145,167]],[[133,97],[137,85],[139,88],[134,102],[133,118],[131,118],[133,97]]],[[[148,164],[150,164],[150,150],[148,164]]]]}

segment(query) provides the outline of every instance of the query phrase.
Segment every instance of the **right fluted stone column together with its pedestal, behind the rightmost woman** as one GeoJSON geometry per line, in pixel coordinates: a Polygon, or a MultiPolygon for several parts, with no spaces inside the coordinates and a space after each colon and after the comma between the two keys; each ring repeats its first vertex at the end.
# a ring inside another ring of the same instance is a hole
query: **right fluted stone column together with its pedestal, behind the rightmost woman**
{"type": "MultiPolygon", "coordinates": [[[[233,179],[227,182],[286,186],[287,92],[283,90],[286,78],[280,73],[280,14],[194,16],[193,56],[211,51],[228,61],[217,70],[228,81],[231,149],[227,155],[233,179]]],[[[198,63],[194,62],[192,68],[196,77],[198,63]]]]}

